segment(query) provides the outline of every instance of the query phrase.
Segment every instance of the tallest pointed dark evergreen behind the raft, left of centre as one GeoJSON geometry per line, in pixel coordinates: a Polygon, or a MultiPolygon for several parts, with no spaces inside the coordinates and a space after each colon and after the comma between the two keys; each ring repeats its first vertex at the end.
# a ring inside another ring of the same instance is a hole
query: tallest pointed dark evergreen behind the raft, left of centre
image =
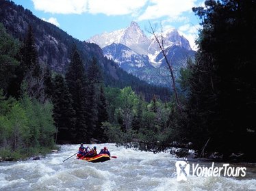
{"type": "Polygon", "coordinates": [[[75,110],[76,141],[90,143],[92,131],[86,126],[86,72],[77,50],[73,53],[66,72],[66,83],[75,110]]]}

